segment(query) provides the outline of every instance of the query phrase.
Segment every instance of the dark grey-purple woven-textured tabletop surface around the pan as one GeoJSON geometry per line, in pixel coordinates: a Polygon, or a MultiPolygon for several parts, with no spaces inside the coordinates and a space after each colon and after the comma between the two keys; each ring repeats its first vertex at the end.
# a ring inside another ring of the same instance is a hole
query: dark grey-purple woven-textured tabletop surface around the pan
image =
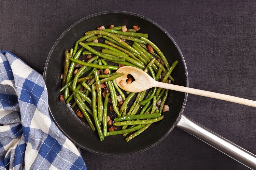
{"type": "MultiPolygon", "coordinates": [[[[128,11],[163,27],[180,47],[189,87],[256,100],[256,1],[0,1],[0,50],[43,74],[49,51],[74,22],[128,11]]],[[[256,154],[256,108],[188,95],[184,114],[256,154]]],[[[247,169],[175,128],[150,150],[105,157],[81,150],[91,169],[247,169]]]]}

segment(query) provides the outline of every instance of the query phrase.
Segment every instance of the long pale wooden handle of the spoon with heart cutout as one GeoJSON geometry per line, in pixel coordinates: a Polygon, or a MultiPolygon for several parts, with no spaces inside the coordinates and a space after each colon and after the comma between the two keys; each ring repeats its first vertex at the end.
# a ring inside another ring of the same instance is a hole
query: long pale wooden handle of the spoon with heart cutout
{"type": "Polygon", "coordinates": [[[256,101],[243,99],[243,98],[239,98],[239,97],[234,97],[234,96],[229,96],[229,95],[224,95],[224,94],[215,93],[215,92],[211,92],[211,91],[199,90],[199,89],[183,87],[183,86],[178,86],[178,85],[174,85],[174,84],[167,84],[167,83],[162,83],[162,82],[155,82],[155,86],[170,89],[170,90],[175,90],[175,91],[181,91],[181,92],[185,92],[185,93],[189,93],[189,94],[193,94],[193,95],[205,96],[205,97],[210,97],[210,98],[214,98],[214,99],[226,100],[229,102],[234,102],[234,103],[244,104],[247,106],[256,107],[256,101]]]}

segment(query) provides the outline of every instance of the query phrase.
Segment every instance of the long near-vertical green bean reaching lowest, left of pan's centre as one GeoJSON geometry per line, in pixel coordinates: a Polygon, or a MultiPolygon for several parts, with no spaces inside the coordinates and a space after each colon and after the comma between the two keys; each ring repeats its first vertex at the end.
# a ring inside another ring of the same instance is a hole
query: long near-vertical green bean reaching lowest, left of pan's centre
{"type": "Polygon", "coordinates": [[[97,97],[97,95],[96,95],[94,85],[92,85],[92,90],[93,90],[93,117],[94,117],[94,121],[95,121],[95,125],[96,125],[96,128],[97,128],[99,137],[100,137],[100,141],[102,141],[102,140],[104,140],[104,136],[103,136],[103,133],[102,133],[101,128],[100,128],[100,121],[97,117],[97,108],[96,108],[96,97],[97,97]]]}

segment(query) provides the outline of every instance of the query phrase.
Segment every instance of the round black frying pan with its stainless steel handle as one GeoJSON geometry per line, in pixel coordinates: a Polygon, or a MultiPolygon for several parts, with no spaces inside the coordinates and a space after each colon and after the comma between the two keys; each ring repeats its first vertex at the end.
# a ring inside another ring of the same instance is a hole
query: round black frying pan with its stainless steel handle
{"type": "MultiPolygon", "coordinates": [[[[148,38],[162,50],[169,63],[173,63],[175,60],[179,61],[172,72],[175,79],[173,84],[188,86],[188,73],[183,55],[173,38],[157,23],[141,15],[123,11],[108,11],[87,16],[70,26],[57,39],[44,68],[43,78],[48,90],[49,112],[61,132],[77,146],[89,152],[104,156],[127,156],[152,148],[176,126],[245,166],[256,169],[255,155],[182,115],[187,100],[187,94],[183,92],[170,91],[166,101],[170,111],[164,114],[165,118],[153,123],[144,133],[129,142],[126,142],[122,135],[108,136],[105,137],[105,140],[100,141],[98,133],[90,129],[86,120],[75,114],[77,108],[72,109],[69,104],[59,101],[58,97],[61,94],[59,92],[61,87],[59,76],[63,72],[65,49],[72,48],[76,40],[84,36],[86,31],[111,24],[114,26],[126,25],[127,28],[139,25],[140,32],[148,33],[148,38]]],[[[108,114],[113,116],[113,113],[108,114]]]]}

